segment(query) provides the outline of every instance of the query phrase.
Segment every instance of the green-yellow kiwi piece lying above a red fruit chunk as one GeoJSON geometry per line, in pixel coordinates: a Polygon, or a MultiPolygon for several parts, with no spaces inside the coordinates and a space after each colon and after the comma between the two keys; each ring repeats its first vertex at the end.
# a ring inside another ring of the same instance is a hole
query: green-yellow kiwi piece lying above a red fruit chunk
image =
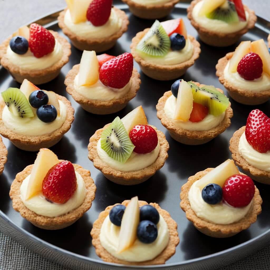
{"type": "Polygon", "coordinates": [[[188,84],[192,89],[193,102],[207,106],[210,114],[218,116],[229,106],[228,97],[220,93],[214,86],[199,87],[192,82],[188,82],[188,84]]]}

